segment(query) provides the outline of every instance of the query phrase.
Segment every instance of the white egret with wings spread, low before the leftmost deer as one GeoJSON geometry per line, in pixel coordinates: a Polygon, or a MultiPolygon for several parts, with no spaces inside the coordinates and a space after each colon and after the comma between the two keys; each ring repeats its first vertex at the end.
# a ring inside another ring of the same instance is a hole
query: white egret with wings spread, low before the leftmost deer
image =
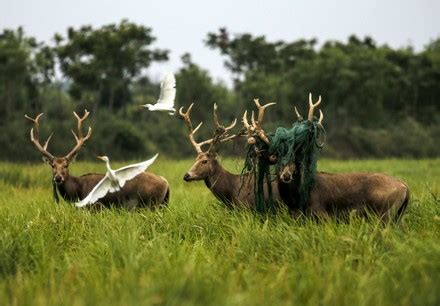
{"type": "Polygon", "coordinates": [[[117,170],[110,168],[110,160],[107,156],[98,156],[99,159],[105,162],[107,173],[84,199],[75,203],[76,207],[83,207],[88,204],[93,204],[99,199],[103,198],[107,193],[121,190],[127,181],[131,180],[136,175],[141,174],[149,166],[151,166],[158,156],[159,154],[156,154],[149,160],[128,165],[117,170]]]}

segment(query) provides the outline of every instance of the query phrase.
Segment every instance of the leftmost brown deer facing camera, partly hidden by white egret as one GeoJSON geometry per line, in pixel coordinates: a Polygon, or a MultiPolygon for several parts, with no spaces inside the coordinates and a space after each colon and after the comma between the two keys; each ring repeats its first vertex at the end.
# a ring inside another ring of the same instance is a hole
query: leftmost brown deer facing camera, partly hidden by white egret
{"type": "MultiPolygon", "coordinates": [[[[30,132],[30,138],[35,147],[43,154],[43,160],[52,167],[53,174],[53,194],[55,202],[58,203],[58,192],[63,199],[68,202],[76,202],[83,199],[93,189],[93,187],[104,177],[103,174],[89,173],[80,177],[69,174],[69,165],[78,154],[80,148],[92,135],[92,129],[89,127],[86,136],[82,134],[82,123],[89,116],[85,110],[84,116],[79,117],[73,112],[78,121],[78,131],[72,134],[75,137],[75,147],[63,157],[56,157],[47,151],[47,146],[53,135],[49,136],[46,142],[41,145],[39,140],[39,120],[42,113],[35,118],[25,115],[26,119],[33,122],[30,132]]],[[[118,206],[133,209],[143,206],[157,206],[166,204],[170,196],[170,188],[165,178],[153,173],[142,173],[128,181],[124,187],[115,193],[109,193],[99,202],[104,206],[115,204],[118,206]]]]}

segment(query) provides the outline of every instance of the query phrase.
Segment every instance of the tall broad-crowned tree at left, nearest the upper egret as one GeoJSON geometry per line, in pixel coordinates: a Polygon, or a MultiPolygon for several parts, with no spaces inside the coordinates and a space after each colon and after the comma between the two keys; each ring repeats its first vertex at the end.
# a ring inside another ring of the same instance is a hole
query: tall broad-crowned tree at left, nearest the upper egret
{"type": "Polygon", "coordinates": [[[129,103],[133,78],[152,62],[168,59],[167,50],[150,47],[155,41],[151,32],[151,28],[122,20],[99,29],[68,28],[67,38],[56,34],[61,71],[72,81],[70,94],[91,100],[95,110],[98,104],[111,110],[129,103]]]}

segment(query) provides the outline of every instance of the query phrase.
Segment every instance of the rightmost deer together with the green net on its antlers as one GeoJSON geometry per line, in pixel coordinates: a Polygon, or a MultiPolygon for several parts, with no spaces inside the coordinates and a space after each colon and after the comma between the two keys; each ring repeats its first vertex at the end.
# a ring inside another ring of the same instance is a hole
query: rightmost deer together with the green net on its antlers
{"type": "MultiPolygon", "coordinates": [[[[292,214],[311,213],[315,216],[342,217],[353,212],[373,214],[382,220],[398,220],[409,203],[409,188],[405,182],[382,173],[338,173],[316,171],[316,154],[319,147],[318,131],[322,129],[324,115],[314,116],[316,103],[309,95],[309,112],[303,120],[295,108],[298,121],[291,129],[278,128],[267,134],[262,120],[249,124],[243,116],[249,143],[260,139],[266,152],[267,163],[275,164],[277,186],[281,200],[292,214]],[[287,157],[286,157],[287,155],[287,157]],[[313,164],[314,163],[314,164],[313,164]],[[303,188],[309,183],[309,188],[303,188]]],[[[261,112],[263,107],[256,102],[261,112]]],[[[261,117],[262,119],[262,117],[261,117]]]]}

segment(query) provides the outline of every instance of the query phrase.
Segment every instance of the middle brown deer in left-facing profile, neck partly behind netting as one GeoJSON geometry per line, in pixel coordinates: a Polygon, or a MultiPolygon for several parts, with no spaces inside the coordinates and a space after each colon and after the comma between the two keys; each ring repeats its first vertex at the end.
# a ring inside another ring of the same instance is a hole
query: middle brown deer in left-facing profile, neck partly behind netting
{"type": "MultiPolygon", "coordinates": [[[[217,160],[217,146],[220,143],[229,141],[237,137],[236,135],[228,135],[228,132],[235,126],[235,119],[228,127],[222,126],[218,121],[217,105],[214,104],[214,125],[216,127],[214,137],[202,142],[196,142],[194,134],[200,128],[203,122],[194,129],[191,123],[190,114],[194,103],[191,104],[186,111],[180,108],[180,118],[185,121],[189,130],[189,140],[197,152],[197,157],[189,171],[185,173],[183,179],[186,182],[203,180],[206,186],[211,190],[214,196],[226,204],[228,207],[245,207],[255,209],[254,198],[254,178],[250,175],[237,175],[225,170],[217,160]],[[206,151],[202,150],[202,146],[209,145],[206,151]]],[[[276,182],[272,184],[274,199],[279,199],[276,182]]],[[[267,189],[265,196],[267,197],[267,189]]]]}

